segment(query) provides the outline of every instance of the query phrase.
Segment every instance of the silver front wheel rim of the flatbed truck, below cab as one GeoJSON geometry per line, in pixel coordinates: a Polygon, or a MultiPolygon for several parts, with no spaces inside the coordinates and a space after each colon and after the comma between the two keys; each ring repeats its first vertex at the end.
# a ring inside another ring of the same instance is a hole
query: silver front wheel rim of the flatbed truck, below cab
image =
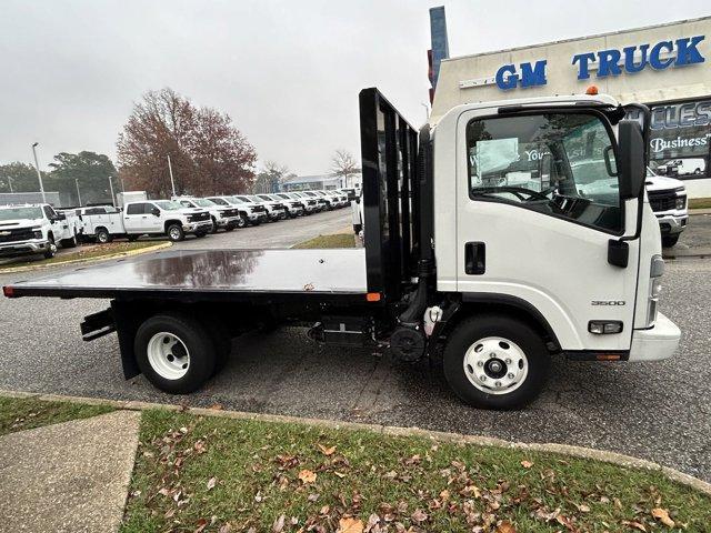
{"type": "Polygon", "coordinates": [[[510,394],[529,374],[529,361],[518,344],[502,336],[487,336],[464,354],[464,375],[487,394],[510,394]]]}

